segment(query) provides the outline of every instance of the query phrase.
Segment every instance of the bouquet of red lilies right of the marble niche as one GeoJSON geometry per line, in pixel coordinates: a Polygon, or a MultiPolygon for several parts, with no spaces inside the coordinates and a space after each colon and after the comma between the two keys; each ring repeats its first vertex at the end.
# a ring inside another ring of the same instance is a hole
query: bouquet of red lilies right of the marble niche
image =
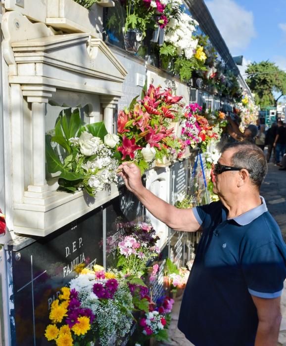
{"type": "Polygon", "coordinates": [[[119,112],[117,131],[121,142],[117,150],[122,161],[134,160],[143,172],[155,159],[184,151],[183,142],[173,129],[168,129],[182,97],[172,95],[169,88],[161,90],[150,85],[143,99],[135,98],[129,109],[119,112]]]}

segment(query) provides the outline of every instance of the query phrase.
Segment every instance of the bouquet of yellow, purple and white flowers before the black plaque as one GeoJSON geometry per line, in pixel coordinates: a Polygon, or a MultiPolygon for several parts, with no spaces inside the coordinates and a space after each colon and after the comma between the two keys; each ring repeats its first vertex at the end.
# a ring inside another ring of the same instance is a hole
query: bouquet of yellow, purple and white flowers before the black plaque
{"type": "Polygon", "coordinates": [[[112,336],[122,338],[130,331],[134,305],[126,280],[95,266],[83,269],[69,286],[51,304],[48,341],[80,346],[98,339],[107,346],[112,336]]]}

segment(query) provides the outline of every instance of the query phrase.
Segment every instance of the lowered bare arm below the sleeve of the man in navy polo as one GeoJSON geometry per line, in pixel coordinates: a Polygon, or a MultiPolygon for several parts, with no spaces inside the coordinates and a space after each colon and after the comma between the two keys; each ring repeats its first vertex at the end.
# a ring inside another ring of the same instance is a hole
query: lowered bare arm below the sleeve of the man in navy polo
{"type": "Polygon", "coordinates": [[[251,296],[257,309],[258,328],[254,346],[277,346],[281,323],[280,297],[259,298],[251,296]]]}

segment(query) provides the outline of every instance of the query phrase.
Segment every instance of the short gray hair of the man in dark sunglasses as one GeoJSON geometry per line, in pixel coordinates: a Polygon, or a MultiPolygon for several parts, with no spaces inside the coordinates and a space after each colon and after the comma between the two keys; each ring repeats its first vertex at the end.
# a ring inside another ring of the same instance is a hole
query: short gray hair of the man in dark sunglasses
{"type": "Polygon", "coordinates": [[[229,149],[235,149],[232,156],[234,167],[245,168],[249,172],[253,185],[260,188],[268,168],[263,151],[249,142],[235,142],[226,144],[221,153],[229,149]]]}

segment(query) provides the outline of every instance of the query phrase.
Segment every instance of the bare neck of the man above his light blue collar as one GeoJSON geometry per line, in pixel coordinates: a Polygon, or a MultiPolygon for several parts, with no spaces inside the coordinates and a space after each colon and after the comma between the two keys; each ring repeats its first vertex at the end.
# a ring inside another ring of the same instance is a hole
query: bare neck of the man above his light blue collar
{"type": "Polygon", "coordinates": [[[232,198],[229,199],[227,197],[221,197],[220,199],[229,211],[227,218],[237,217],[261,205],[259,192],[240,196],[237,195],[235,197],[232,196],[232,198]]]}

